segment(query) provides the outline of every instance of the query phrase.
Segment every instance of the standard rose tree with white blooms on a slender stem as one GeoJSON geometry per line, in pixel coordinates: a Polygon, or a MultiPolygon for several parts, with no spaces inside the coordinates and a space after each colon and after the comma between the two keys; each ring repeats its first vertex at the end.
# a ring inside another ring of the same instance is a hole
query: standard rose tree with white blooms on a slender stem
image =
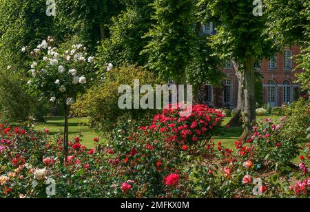
{"type": "Polygon", "coordinates": [[[32,58],[28,82],[32,92],[63,106],[65,124],[63,136],[63,161],[68,158],[68,113],[76,96],[85,91],[93,78],[94,58],[87,54],[82,44],[68,42],[55,46],[51,36],[42,41],[34,50],[23,47],[32,58]]]}

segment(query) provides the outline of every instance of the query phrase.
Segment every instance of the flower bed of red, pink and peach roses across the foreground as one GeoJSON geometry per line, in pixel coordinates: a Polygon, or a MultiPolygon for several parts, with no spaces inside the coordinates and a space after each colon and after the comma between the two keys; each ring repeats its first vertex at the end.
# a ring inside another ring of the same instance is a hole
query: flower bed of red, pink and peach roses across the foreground
{"type": "Polygon", "coordinates": [[[298,166],[289,165],[295,145],[279,136],[285,123],[266,120],[248,142],[227,149],[211,139],[220,111],[194,105],[191,116],[180,112],[164,109],[143,127],[119,123],[108,147],[94,138],[96,148],[86,149],[76,137],[65,165],[60,136],[0,125],[0,198],[309,197],[310,146],[300,146],[298,166]],[[55,193],[47,192],[53,183],[55,193]]]}

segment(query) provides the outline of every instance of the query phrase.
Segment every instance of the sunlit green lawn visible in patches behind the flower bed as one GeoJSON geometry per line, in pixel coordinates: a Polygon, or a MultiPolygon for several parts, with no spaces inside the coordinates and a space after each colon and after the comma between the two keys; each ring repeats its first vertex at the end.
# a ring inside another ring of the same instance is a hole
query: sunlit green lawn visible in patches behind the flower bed
{"type": "MultiPolygon", "coordinates": [[[[265,118],[272,118],[273,120],[278,120],[280,116],[259,116],[258,120],[264,120],[265,118]]],[[[229,123],[230,118],[225,118],[223,125],[227,125],[229,123]]],[[[63,118],[62,117],[52,117],[46,118],[46,123],[34,125],[34,128],[37,130],[43,130],[45,127],[50,129],[50,134],[56,133],[63,133],[63,118]]],[[[70,118],[69,119],[69,134],[70,139],[74,138],[75,136],[81,136],[82,144],[85,145],[87,148],[93,148],[94,137],[100,137],[99,133],[96,133],[94,129],[90,129],[86,125],[87,118],[70,118]]],[[[216,143],[222,142],[223,145],[227,148],[234,147],[234,142],[238,140],[238,138],[242,135],[242,127],[231,127],[229,129],[225,129],[223,131],[222,136],[214,137],[216,143]]],[[[101,138],[102,143],[107,143],[107,140],[101,138]]]]}

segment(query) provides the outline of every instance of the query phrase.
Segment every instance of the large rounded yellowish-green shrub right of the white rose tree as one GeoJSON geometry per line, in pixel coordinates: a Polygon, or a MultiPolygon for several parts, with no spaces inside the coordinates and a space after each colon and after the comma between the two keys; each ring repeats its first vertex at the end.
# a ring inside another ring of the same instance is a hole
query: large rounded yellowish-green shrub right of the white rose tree
{"type": "Polygon", "coordinates": [[[142,67],[121,67],[107,72],[103,81],[99,81],[81,96],[72,105],[72,111],[77,116],[89,116],[90,125],[103,134],[112,132],[116,122],[125,112],[129,112],[133,119],[143,119],[152,110],[120,109],[118,107],[118,94],[120,85],[130,85],[133,88],[134,79],[140,80],[140,85],[155,85],[156,79],[151,72],[142,67]]]}

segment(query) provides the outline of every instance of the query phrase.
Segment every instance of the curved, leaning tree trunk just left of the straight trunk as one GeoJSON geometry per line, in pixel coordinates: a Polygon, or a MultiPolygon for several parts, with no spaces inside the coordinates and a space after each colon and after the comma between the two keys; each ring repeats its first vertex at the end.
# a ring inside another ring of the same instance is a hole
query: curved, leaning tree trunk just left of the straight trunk
{"type": "Polygon", "coordinates": [[[243,90],[245,78],[243,76],[242,70],[240,70],[238,63],[236,63],[235,61],[232,61],[232,63],[234,65],[236,77],[238,78],[238,103],[236,108],[236,114],[229,121],[229,126],[240,127],[243,124],[242,112],[245,107],[245,92],[243,90]]]}

